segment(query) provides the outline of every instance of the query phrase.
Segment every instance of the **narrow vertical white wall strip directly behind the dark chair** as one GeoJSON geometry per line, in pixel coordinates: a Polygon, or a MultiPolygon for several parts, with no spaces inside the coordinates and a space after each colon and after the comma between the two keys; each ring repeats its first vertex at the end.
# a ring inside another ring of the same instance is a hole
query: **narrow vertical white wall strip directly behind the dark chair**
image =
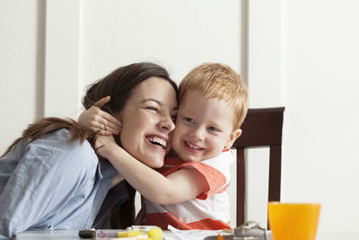
{"type": "MultiPolygon", "coordinates": [[[[282,106],[281,1],[248,1],[248,86],[250,107],[282,106]]],[[[269,149],[247,153],[246,220],[267,226],[269,149]]]]}

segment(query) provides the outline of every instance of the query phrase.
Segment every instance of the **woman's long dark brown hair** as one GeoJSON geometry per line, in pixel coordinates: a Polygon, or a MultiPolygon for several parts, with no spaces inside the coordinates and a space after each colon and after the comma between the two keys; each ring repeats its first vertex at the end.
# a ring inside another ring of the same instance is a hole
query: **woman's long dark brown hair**
{"type": "MultiPolygon", "coordinates": [[[[109,95],[111,100],[102,107],[102,110],[114,115],[123,110],[136,86],[153,76],[161,77],[169,82],[178,94],[177,84],[171,80],[166,69],[153,63],[142,62],[125,67],[118,67],[118,69],[108,76],[90,85],[83,97],[83,107],[89,109],[93,103],[109,95]]],[[[159,89],[159,91],[161,90],[159,89]]],[[[29,125],[29,127],[22,132],[22,137],[17,138],[13,144],[7,148],[3,156],[8,154],[13,147],[22,140],[26,140],[30,143],[57,129],[67,129],[73,136],[72,140],[80,139],[81,143],[83,143],[84,140],[88,140],[93,147],[94,133],[85,129],[75,120],[44,118],[29,125]]],[[[119,142],[118,144],[120,145],[119,142]]],[[[129,187],[128,191],[130,199],[124,204],[121,204],[112,213],[109,226],[111,228],[125,228],[133,224],[135,218],[134,199],[136,191],[132,187],[129,187]]]]}

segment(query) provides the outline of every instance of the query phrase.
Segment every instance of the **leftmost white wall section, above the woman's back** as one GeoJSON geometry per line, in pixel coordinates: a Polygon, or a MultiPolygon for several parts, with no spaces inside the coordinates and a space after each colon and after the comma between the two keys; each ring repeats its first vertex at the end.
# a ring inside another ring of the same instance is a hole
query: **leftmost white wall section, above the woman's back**
{"type": "Polygon", "coordinates": [[[0,1],[0,152],[42,115],[44,15],[39,1],[0,1]]]}

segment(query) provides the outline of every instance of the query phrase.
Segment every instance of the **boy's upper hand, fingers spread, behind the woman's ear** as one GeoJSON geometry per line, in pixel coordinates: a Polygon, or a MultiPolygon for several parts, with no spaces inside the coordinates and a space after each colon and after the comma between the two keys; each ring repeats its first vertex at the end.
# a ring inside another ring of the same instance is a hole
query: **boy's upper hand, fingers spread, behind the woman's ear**
{"type": "Polygon", "coordinates": [[[91,108],[83,111],[78,122],[87,129],[91,129],[97,134],[109,136],[118,135],[122,129],[122,123],[106,111],[101,111],[101,107],[109,102],[110,96],[101,98],[95,102],[91,108]]]}

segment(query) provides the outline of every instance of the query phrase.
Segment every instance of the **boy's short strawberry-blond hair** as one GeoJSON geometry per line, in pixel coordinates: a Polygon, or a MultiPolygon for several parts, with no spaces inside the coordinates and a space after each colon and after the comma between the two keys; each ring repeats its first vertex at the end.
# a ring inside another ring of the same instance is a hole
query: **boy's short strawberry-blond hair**
{"type": "Polygon", "coordinates": [[[231,67],[204,63],[193,68],[180,82],[180,102],[190,91],[199,91],[206,99],[223,99],[232,106],[233,129],[239,129],[248,110],[247,85],[231,67]]]}

